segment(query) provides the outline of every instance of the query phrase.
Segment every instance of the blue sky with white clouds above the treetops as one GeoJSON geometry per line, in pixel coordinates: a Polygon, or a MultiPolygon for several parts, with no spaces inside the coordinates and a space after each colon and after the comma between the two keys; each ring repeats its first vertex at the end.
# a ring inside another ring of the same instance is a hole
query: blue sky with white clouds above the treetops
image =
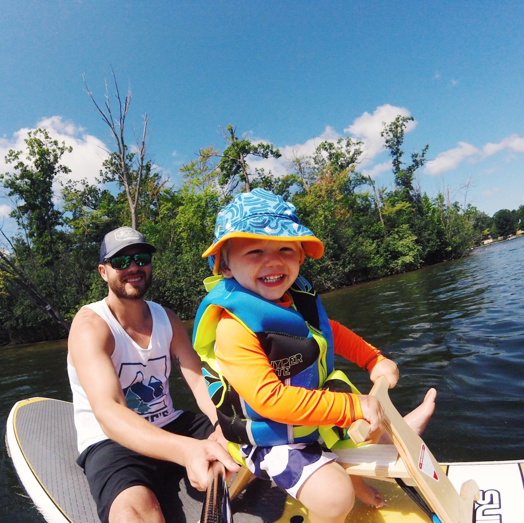
{"type": "MultiPolygon", "coordinates": [[[[286,172],[323,139],[365,144],[359,170],[391,187],[383,122],[411,115],[406,159],[429,144],[418,183],[490,215],[524,204],[522,2],[132,2],[4,0],[0,165],[46,127],[94,182],[113,143],[100,103],[114,68],[132,92],[127,137],[147,112],[148,152],[176,186],[220,127],[268,141],[286,172]]],[[[2,216],[10,202],[1,198],[2,216]]],[[[5,224],[6,222],[4,222],[5,224]]]]}

